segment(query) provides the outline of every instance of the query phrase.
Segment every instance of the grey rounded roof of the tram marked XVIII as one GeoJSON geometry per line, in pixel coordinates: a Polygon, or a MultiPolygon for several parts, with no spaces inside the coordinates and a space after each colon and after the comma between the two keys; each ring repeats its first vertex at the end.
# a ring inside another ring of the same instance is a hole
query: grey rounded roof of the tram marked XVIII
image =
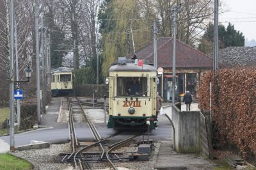
{"type": "Polygon", "coordinates": [[[145,64],[143,64],[143,66],[138,66],[134,63],[126,63],[125,65],[111,66],[109,72],[156,72],[156,67],[145,64]]]}

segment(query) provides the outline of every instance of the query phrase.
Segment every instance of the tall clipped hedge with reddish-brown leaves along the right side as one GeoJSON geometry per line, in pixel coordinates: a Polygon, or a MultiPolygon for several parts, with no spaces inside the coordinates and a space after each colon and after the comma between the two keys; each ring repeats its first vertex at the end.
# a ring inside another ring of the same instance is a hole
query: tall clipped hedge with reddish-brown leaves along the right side
{"type": "Polygon", "coordinates": [[[256,68],[222,69],[202,75],[198,102],[209,111],[212,85],[212,120],[222,143],[236,144],[244,157],[256,155],[256,68]]]}

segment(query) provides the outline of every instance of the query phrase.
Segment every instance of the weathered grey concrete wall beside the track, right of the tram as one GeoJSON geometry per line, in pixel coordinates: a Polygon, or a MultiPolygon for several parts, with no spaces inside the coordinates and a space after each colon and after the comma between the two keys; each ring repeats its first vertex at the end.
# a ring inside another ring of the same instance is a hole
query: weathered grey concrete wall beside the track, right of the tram
{"type": "Polygon", "coordinates": [[[200,112],[180,111],[174,106],[172,121],[175,127],[177,153],[199,153],[201,151],[200,112]]]}

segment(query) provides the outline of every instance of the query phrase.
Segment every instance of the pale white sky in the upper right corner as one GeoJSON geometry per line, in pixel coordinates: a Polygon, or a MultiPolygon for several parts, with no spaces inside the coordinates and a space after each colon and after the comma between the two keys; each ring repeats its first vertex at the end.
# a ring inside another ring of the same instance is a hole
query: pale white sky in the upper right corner
{"type": "Polygon", "coordinates": [[[256,0],[222,0],[219,22],[227,27],[234,24],[248,40],[256,40],[256,0]]]}

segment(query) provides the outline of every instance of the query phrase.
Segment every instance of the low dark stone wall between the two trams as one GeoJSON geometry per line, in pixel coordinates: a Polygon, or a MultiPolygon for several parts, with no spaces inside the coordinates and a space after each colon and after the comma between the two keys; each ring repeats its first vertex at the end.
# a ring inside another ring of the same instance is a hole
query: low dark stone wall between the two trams
{"type": "MultiPolygon", "coordinates": [[[[94,93],[95,97],[102,98],[104,95],[108,97],[108,85],[100,84],[98,96],[94,93]]],[[[74,88],[76,97],[93,97],[93,89],[97,89],[96,84],[83,84],[74,88]]]]}

